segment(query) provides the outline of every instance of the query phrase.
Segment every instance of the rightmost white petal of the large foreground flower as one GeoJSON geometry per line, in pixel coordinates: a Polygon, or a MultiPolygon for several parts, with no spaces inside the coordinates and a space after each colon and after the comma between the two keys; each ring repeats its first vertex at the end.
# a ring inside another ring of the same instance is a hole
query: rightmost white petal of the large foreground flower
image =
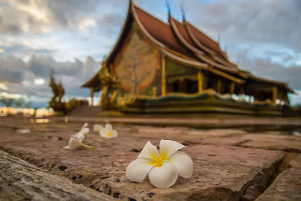
{"type": "Polygon", "coordinates": [[[184,152],[176,152],[169,159],[178,171],[178,174],[184,178],[190,178],[193,172],[193,162],[191,157],[184,152]]]}

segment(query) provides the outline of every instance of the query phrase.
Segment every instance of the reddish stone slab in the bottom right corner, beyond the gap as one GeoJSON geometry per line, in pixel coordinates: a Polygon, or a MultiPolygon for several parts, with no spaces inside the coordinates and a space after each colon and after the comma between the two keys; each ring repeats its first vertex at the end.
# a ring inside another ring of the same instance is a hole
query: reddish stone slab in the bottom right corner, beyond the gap
{"type": "Polygon", "coordinates": [[[301,168],[284,170],[256,201],[301,200],[301,168]]]}

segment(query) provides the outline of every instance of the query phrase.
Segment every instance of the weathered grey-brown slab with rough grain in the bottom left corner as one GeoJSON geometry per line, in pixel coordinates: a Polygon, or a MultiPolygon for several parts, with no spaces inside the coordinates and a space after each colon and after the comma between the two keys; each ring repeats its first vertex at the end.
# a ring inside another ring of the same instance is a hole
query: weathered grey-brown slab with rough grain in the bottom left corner
{"type": "Polygon", "coordinates": [[[99,200],[114,198],[81,184],[48,173],[0,150],[0,199],[6,200],[99,200]],[[67,199],[66,199],[67,197],[67,199]]]}

